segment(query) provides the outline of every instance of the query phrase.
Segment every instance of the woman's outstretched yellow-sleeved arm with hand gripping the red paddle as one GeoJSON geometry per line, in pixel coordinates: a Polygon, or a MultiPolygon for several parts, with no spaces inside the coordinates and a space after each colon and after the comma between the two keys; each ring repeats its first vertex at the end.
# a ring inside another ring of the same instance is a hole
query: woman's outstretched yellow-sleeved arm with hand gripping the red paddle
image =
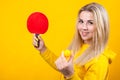
{"type": "Polygon", "coordinates": [[[38,36],[38,38],[37,38],[34,35],[33,45],[40,52],[40,55],[43,57],[43,59],[48,64],[50,64],[50,66],[52,66],[54,69],[56,69],[56,66],[55,66],[54,62],[57,59],[57,56],[46,47],[43,39],[40,36],[38,36]]]}

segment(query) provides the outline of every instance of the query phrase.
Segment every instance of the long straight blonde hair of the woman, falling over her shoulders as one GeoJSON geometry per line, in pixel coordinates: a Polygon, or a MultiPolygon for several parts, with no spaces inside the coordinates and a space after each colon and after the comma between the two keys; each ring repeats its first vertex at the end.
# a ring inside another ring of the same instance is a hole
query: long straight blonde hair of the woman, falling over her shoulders
{"type": "MultiPolygon", "coordinates": [[[[100,55],[105,49],[109,37],[109,19],[104,7],[98,3],[90,3],[83,6],[79,11],[78,16],[82,11],[89,11],[93,13],[96,25],[96,31],[94,32],[91,45],[76,60],[77,64],[79,63],[81,65],[84,65],[89,60],[100,55]]],[[[78,30],[76,29],[74,39],[69,46],[69,49],[76,53],[83,44],[84,41],[82,40],[78,30]]]]}

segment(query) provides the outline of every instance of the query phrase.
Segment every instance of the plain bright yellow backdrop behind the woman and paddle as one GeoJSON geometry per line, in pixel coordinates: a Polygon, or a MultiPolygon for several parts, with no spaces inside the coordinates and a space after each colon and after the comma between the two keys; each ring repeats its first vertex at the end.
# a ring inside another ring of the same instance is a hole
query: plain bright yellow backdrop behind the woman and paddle
{"type": "MultiPolygon", "coordinates": [[[[49,19],[42,35],[46,45],[59,55],[70,43],[78,10],[89,2],[98,2],[110,17],[110,48],[117,53],[110,66],[110,80],[120,79],[120,3],[119,0],[0,0],[0,80],[59,80],[32,45],[26,21],[40,11],[49,19]]],[[[104,64],[103,64],[104,65],[104,64]]]]}

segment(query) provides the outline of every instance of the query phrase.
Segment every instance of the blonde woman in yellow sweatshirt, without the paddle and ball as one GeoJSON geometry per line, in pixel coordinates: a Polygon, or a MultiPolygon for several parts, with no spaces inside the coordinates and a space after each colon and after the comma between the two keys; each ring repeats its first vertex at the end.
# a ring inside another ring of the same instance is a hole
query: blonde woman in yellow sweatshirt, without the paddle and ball
{"type": "Polygon", "coordinates": [[[115,56],[107,47],[108,37],[106,10],[98,3],[90,3],[78,13],[76,33],[68,47],[71,51],[69,60],[64,52],[56,57],[40,36],[34,36],[33,45],[40,45],[36,49],[54,69],[61,72],[61,80],[107,80],[109,64],[115,56]]]}

